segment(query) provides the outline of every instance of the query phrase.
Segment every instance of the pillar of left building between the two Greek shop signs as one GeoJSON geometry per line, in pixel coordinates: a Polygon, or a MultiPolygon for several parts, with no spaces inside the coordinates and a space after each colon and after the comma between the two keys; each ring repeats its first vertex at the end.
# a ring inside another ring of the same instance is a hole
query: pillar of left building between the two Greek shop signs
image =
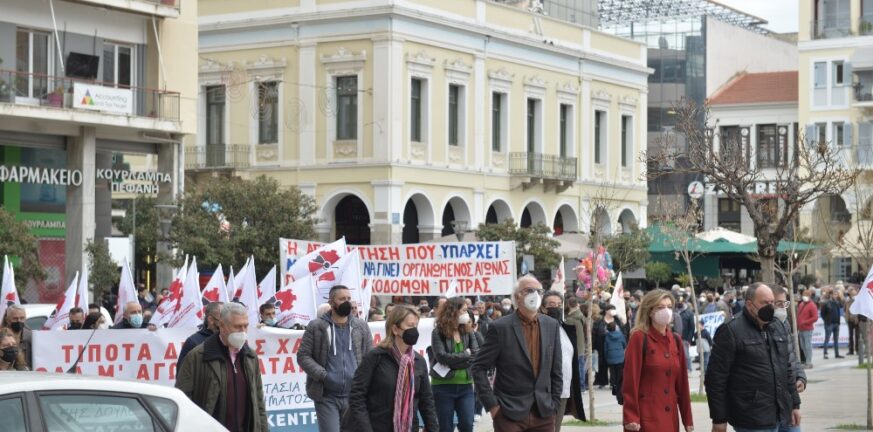
{"type": "Polygon", "coordinates": [[[82,172],[81,186],[67,186],[66,275],[69,284],[76,272],[90,265],[85,245],[94,239],[97,130],[82,127],[79,135],[67,138],[67,169],[82,172]]]}

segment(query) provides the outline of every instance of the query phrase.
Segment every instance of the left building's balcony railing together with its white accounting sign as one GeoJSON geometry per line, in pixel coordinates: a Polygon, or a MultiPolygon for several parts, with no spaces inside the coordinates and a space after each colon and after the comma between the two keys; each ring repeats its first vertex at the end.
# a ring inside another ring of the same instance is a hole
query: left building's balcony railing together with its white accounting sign
{"type": "Polygon", "coordinates": [[[179,93],[0,69],[0,103],[179,120],[179,93]]]}

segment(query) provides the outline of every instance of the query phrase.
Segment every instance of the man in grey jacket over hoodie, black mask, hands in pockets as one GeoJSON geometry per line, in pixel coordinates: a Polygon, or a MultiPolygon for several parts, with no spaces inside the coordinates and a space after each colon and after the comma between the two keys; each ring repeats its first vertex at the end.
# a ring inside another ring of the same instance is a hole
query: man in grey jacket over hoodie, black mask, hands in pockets
{"type": "Polygon", "coordinates": [[[306,372],[306,395],[315,403],[318,430],[322,432],[339,432],[355,369],[373,347],[370,327],[351,315],[351,301],[346,286],[331,288],[331,311],[306,326],[297,352],[297,363],[306,372]]]}

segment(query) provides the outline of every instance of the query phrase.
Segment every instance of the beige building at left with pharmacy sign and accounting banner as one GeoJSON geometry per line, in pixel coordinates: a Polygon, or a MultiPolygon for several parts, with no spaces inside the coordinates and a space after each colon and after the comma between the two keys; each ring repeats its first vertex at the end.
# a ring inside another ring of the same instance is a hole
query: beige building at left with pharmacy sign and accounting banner
{"type": "Polygon", "coordinates": [[[25,298],[53,302],[88,265],[85,244],[111,235],[114,198],[181,189],[197,2],[8,0],[2,11],[0,204],[39,237],[48,279],[25,298]]]}

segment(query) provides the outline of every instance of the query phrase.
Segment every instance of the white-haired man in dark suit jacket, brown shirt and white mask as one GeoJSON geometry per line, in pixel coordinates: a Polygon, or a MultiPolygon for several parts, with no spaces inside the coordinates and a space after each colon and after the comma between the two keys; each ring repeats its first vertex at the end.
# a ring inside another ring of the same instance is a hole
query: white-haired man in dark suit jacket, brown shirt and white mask
{"type": "Polygon", "coordinates": [[[491,323],[471,367],[494,430],[554,432],[563,390],[563,354],[560,325],[537,313],[542,298],[542,284],[533,276],[522,276],[512,293],[516,313],[491,323]],[[496,370],[493,388],[491,369],[496,370]]]}

